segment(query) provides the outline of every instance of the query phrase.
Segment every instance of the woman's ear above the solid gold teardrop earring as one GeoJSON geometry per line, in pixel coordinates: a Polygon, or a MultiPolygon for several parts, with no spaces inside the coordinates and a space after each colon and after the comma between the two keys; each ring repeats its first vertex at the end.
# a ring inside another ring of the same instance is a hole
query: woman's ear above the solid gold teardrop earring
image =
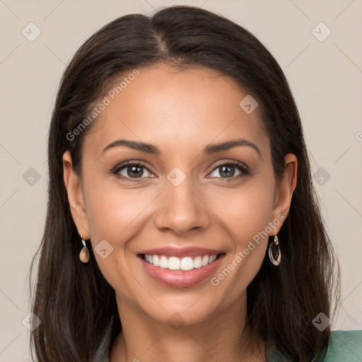
{"type": "Polygon", "coordinates": [[[68,193],[68,200],[71,208],[71,216],[76,224],[79,235],[82,235],[83,239],[88,240],[90,235],[83,187],[81,185],[81,180],[74,172],[70,151],[66,151],[63,154],[63,173],[64,185],[66,187],[66,192],[68,193]]]}

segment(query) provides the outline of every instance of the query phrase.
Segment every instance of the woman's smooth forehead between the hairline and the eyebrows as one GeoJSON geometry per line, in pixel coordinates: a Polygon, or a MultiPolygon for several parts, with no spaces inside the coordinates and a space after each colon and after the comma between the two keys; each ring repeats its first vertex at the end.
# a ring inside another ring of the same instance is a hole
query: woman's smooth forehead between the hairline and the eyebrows
{"type": "Polygon", "coordinates": [[[117,78],[101,100],[107,105],[86,136],[93,149],[117,138],[184,151],[185,145],[240,137],[259,148],[269,146],[259,110],[248,114],[240,107],[247,92],[233,78],[206,68],[180,71],[166,65],[138,71],[117,78]]]}

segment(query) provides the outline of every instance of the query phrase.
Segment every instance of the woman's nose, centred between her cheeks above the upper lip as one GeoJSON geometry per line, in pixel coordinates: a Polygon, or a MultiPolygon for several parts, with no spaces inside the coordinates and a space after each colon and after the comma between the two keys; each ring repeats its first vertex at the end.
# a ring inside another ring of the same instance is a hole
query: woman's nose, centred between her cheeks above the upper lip
{"type": "Polygon", "coordinates": [[[202,192],[192,187],[190,179],[186,177],[177,186],[166,182],[155,219],[160,230],[173,230],[177,235],[184,235],[190,230],[203,230],[209,226],[210,210],[203,202],[202,192]]]}

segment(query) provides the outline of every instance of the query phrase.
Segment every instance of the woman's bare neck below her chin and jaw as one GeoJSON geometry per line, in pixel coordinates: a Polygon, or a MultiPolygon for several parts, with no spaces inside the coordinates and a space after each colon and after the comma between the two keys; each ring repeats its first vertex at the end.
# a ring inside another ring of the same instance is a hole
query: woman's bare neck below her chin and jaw
{"type": "Polygon", "coordinates": [[[110,362],[267,361],[264,342],[251,339],[247,328],[246,291],[242,300],[192,325],[176,325],[177,318],[157,322],[118,298],[117,305],[122,332],[112,346],[110,362]],[[255,348],[258,343],[260,349],[255,348]]]}

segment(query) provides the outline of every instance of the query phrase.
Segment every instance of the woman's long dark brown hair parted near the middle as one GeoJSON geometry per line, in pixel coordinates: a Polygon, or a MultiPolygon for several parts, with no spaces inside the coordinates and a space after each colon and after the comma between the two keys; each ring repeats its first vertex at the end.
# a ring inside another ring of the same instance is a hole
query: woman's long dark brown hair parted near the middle
{"type": "Polygon", "coordinates": [[[312,321],[321,312],[332,317],[339,266],[320,215],[296,103],[280,66],[252,33],[192,6],[117,18],[86,40],[64,71],[49,129],[45,231],[31,268],[39,257],[32,308],[41,324],[31,334],[32,356],[34,350],[42,362],[91,361],[110,323],[109,346],[121,330],[115,291],[91,247],[90,262],[79,261],[82,245],[69,209],[62,156],[71,151],[81,176],[83,139],[95,122],[73,140],[67,134],[117,77],[157,63],[214,69],[251,94],[269,134],[276,180],[283,175],[284,156],[298,158],[298,184],[279,232],[281,264],[274,267],[264,258],[247,287],[247,315],[252,332],[273,340],[282,354],[311,361],[329,342],[330,327],[320,332],[312,321]]]}

